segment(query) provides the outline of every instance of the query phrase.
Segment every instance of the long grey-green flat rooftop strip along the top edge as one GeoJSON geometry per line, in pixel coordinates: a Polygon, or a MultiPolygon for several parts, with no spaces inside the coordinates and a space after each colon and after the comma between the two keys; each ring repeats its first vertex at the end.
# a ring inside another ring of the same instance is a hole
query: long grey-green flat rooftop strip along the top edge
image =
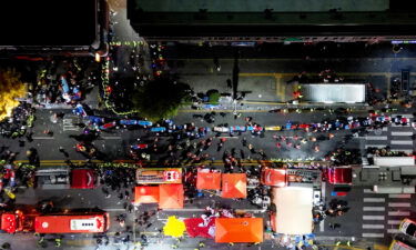
{"type": "Polygon", "coordinates": [[[133,0],[144,11],[197,12],[316,12],[338,11],[385,11],[389,0],[133,0]]]}

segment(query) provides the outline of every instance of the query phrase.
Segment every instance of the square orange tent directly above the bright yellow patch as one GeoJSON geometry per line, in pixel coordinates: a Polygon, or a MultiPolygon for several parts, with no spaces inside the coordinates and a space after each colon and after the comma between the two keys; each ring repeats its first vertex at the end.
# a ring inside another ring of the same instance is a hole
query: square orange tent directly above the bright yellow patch
{"type": "Polygon", "coordinates": [[[160,184],[159,196],[159,208],[183,208],[183,184],[160,184]]]}

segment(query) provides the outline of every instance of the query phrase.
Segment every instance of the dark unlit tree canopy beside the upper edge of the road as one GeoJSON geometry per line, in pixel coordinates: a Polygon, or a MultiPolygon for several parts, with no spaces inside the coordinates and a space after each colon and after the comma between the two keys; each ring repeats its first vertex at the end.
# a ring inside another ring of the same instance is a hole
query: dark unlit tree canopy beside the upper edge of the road
{"type": "Polygon", "coordinates": [[[133,106],[140,114],[152,121],[171,118],[190,97],[190,87],[168,78],[148,81],[133,96],[133,106]]]}

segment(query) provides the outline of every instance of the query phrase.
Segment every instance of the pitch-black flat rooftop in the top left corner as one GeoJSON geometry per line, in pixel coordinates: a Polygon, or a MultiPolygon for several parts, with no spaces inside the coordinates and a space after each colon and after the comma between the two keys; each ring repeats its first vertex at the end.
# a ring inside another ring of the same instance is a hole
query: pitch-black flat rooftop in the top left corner
{"type": "Polygon", "coordinates": [[[97,0],[12,0],[0,3],[0,46],[90,46],[97,0]]]}

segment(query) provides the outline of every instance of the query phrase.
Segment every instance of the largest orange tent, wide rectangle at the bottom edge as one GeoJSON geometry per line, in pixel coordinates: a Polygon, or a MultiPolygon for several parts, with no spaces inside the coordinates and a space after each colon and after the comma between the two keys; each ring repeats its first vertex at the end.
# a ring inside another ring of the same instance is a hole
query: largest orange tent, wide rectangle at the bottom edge
{"type": "Polygon", "coordinates": [[[263,218],[216,218],[215,242],[263,242],[263,218]]]}

